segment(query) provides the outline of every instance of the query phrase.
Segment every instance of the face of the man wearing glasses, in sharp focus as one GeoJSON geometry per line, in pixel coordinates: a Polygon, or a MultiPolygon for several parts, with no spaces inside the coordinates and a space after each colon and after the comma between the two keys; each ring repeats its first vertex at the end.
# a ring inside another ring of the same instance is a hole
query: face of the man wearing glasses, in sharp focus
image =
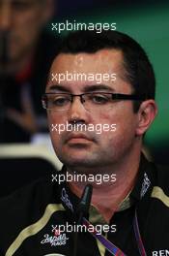
{"type": "MultiPolygon", "coordinates": [[[[96,53],[60,54],[56,57],[51,67],[50,74],[85,73],[116,74],[116,80],[102,80],[101,86],[97,80],[74,81],[64,80],[60,82],[60,88],[52,76],[46,86],[46,92],[64,92],[81,94],[84,92],[113,92],[131,94],[132,88],[123,80],[124,69],[123,56],[120,50],[102,49],[96,53]]],[[[133,112],[132,101],[116,101],[109,110],[104,107],[99,111],[87,111],[81,104],[79,97],[74,98],[69,111],[48,111],[48,120],[51,140],[56,154],[67,166],[76,168],[99,168],[111,166],[113,163],[123,161],[135,146],[137,127],[137,114],[133,112]],[[93,124],[116,124],[116,131],[62,132],[52,131],[52,124],[73,123],[73,120],[93,124]],[[73,138],[78,136],[81,138],[73,138]],[[82,137],[86,138],[82,138],[82,137]]]]}

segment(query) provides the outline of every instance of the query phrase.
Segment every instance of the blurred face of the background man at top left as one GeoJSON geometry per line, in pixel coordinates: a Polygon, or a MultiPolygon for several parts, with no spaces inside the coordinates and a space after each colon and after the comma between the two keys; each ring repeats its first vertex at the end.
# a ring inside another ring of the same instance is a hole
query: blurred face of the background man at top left
{"type": "Polygon", "coordinates": [[[0,0],[0,30],[9,31],[11,61],[19,61],[35,48],[46,18],[46,1],[0,0]]]}

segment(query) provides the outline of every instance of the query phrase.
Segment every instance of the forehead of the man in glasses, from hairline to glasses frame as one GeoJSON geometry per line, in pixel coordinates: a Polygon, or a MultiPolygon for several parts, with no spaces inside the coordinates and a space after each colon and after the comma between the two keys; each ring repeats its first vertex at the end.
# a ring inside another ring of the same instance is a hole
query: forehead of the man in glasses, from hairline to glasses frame
{"type": "Polygon", "coordinates": [[[95,89],[97,89],[101,84],[119,92],[130,92],[132,87],[126,80],[123,60],[122,51],[117,49],[101,49],[95,53],[60,53],[54,59],[51,66],[46,90],[60,87],[74,93],[77,93],[77,91],[81,93],[85,91],[85,88],[89,89],[89,87],[92,88],[95,86],[95,89]],[[72,79],[67,80],[65,74],[72,75],[72,79]],[[74,74],[85,74],[88,79],[84,79],[83,77],[82,80],[77,80],[74,74]],[[89,80],[91,74],[94,75],[94,79],[89,80]],[[64,78],[61,82],[58,81],[60,75],[64,78]],[[97,79],[100,77],[98,75],[101,75],[102,79],[100,81],[97,79]],[[104,75],[108,75],[109,79],[104,80],[104,75]],[[114,75],[116,77],[115,80],[111,79],[114,75]]]}

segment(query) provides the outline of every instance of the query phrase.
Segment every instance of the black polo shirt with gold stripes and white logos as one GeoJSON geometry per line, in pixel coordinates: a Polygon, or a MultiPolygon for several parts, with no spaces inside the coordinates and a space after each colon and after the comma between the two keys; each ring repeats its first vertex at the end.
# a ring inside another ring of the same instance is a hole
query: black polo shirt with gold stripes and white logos
{"type": "MultiPolygon", "coordinates": [[[[63,171],[64,172],[64,171],[63,171]]],[[[108,195],[107,195],[108,196],[108,195]]],[[[72,256],[75,210],[79,199],[66,182],[41,179],[0,201],[0,255],[72,256]],[[67,227],[59,231],[58,227],[67,227]],[[70,225],[70,226],[69,226],[70,225]],[[70,229],[68,228],[70,227],[70,229]]],[[[127,256],[139,256],[133,230],[135,209],[147,255],[169,255],[169,173],[159,170],[143,156],[135,187],[102,233],[127,256]],[[114,229],[116,227],[116,229],[114,229]]],[[[107,225],[91,206],[89,221],[107,225]]],[[[90,232],[79,232],[78,256],[110,254],[90,232]]]]}

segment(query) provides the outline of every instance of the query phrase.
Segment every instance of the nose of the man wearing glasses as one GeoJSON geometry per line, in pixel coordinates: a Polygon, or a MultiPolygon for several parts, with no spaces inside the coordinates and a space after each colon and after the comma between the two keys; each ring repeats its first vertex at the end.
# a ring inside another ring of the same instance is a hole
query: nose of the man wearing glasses
{"type": "Polygon", "coordinates": [[[88,122],[88,112],[80,101],[80,97],[74,97],[69,110],[69,122],[88,122]]]}

